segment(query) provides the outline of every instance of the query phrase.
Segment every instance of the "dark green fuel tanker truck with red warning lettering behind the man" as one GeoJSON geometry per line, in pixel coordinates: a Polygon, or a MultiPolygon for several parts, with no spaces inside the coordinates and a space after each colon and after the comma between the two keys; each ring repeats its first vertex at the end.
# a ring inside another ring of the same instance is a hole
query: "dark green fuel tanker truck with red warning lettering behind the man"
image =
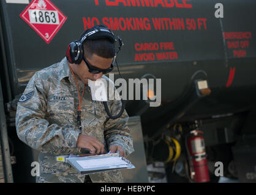
{"type": "Polygon", "coordinates": [[[125,182],[256,182],[254,0],[4,0],[0,10],[0,182],[35,182],[38,151],[17,136],[17,102],[98,24],[123,43],[111,80],[121,86],[119,67],[129,88],[136,168],[125,182]]]}

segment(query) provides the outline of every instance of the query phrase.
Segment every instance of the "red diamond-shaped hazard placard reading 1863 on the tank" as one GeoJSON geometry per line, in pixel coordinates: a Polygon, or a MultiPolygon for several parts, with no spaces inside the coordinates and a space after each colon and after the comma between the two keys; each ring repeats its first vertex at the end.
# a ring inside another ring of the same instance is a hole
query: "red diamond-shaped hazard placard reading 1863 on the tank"
{"type": "Polygon", "coordinates": [[[67,19],[49,0],[31,1],[20,17],[47,43],[50,43],[67,19]]]}

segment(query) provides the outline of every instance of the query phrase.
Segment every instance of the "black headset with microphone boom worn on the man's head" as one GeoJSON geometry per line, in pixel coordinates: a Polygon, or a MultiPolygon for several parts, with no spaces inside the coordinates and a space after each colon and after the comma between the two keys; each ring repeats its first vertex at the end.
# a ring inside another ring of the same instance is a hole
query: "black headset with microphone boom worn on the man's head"
{"type": "MultiPolygon", "coordinates": [[[[111,43],[114,44],[114,46],[116,43],[115,35],[110,29],[108,29],[104,25],[94,26],[91,29],[86,30],[83,34],[84,35],[82,35],[79,40],[72,41],[71,43],[69,43],[69,46],[67,47],[66,58],[69,61],[69,63],[75,63],[75,64],[81,63],[84,55],[83,42],[85,40],[99,40],[102,38],[107,38],[111,43]]],[[[119,36],[118,36],[118,41],[119,41],[119,48],[118,48],[118,52],[119,52],[124,43],[122,43],[122,40],[119,36]]],[[[116,52],[116,55],[118,54],[118,52],[116,52]]],[[[118,67],[116,55],[115,55],[115,62],[116,62],[116,66],[118,67]]],[[[119,71],[119,67],[118,67],[118,73],[119,73],[119,76],[122,78],[119,71]]],[[[119,118],[124,112],[124,108],[126,107],[126,101],[122,99],[121,102],[122,102],[121,111],[116,116],[111,115],[107,102],[103,102],[105,111],[107,112],[108,116],[111,119],[119,118]]]]}

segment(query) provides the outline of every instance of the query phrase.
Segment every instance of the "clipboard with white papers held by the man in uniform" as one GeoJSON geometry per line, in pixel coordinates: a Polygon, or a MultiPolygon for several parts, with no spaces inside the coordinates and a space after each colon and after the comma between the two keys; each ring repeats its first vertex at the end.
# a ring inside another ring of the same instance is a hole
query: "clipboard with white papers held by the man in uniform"
{"type": "Polygon", "coordinates": [[[112,171],[116,169],[134,169],[135,166],[119,153],[89,155],[69,155],[65,160],[82,175],[94,174],[97,172],[112,171]]]}

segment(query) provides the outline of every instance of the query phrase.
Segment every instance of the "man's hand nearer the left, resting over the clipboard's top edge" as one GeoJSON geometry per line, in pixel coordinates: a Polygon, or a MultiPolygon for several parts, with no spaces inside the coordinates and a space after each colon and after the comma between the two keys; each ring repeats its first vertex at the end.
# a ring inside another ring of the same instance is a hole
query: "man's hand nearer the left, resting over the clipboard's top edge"
{"type": "Polygon", "coordinates": [[[104,154],[104,144],[100,143],[96,137],[80,134],[77,138],[77,147],[86,148],[91,154],[104,154]]]}

